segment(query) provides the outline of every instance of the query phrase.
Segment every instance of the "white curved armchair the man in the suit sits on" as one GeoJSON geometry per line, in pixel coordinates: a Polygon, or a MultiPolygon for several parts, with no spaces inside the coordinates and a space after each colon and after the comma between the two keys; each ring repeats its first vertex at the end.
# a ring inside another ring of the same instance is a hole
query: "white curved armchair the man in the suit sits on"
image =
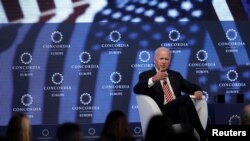
{"type": "MultiPolygon", "coordinates": [[[[195,108],[199,115],[202,127],[206,129],[208,120],[208,109],[205,96],[202,100],[195,100],[193,95],[190,95],[192,101],[194,102],[195,108]]],[[[142,133],[145,137],[146,130],[150,119],[155,115],[162,115],[162,112],[156,102],[149,96],[146,95],[136,95],[136,100],[138,104],[139,117],[141,121],[142,133]]],[[[173,125],[176,130],[180,130],[180,125],[173,125]]],[[[197,134],[197,133],[196,133],[197,134]]]]}

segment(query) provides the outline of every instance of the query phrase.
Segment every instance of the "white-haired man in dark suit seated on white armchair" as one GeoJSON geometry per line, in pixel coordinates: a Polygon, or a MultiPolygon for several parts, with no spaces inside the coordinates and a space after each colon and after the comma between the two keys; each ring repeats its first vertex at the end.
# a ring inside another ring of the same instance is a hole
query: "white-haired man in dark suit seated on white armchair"
{"type": "Polygon", "coordinates": [[[155,50],[154,64],[151,70],[142,72],[134,86],[134,93],[152,97],[164,115],[172,123],[181,123],[182,128],[195,128],[200,139],[205,140],[206,134],[200,123],[195,106],[188,95],[202,99],[202,89],[187,81],[179,72],[169,70],[171,51],[164,47],[155,50]]]}

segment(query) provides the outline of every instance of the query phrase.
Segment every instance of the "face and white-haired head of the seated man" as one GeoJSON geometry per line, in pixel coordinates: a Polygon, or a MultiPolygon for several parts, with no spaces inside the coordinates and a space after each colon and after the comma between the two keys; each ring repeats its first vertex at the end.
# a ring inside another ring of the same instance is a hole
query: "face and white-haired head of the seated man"
{"type": "Polygon", "coordinates": [[[161,70],[167,70],[171,61],[171,54],[168,51],[160,50],[155,56],[154,63],[156,68],[161,70]]]}

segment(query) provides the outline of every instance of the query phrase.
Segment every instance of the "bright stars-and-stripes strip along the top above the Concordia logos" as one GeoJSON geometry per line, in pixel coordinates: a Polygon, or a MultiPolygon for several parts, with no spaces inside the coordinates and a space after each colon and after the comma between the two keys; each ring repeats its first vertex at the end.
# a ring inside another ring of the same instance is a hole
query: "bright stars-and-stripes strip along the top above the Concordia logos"
{"type": "Polygon", "coordinates": [[[1,0],[0,23],[248,21],[249,0],[1,0]]]}

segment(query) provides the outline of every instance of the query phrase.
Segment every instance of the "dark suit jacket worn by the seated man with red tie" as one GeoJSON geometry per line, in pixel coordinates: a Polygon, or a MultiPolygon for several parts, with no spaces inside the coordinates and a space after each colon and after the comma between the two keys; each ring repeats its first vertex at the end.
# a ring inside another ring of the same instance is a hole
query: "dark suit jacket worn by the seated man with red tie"
{"type": "MultiPolygon", "coordinates": [[[[179,72],[167,70],[167,73],[176,98],[181,96],[181,92],[192,95],[195,91],[202,91],[199,86],[184,79],[179,72]]],[[[148,88],[148,80],[155,74],[155,68],[142,72],[139,75],[138,83],[134,86],[134,93],[148,95],[155,100],[159,107],[162,107],[164,105],[164,92],[161,86],[161,82],[158,81],[152,87],[148,88]]]]}

